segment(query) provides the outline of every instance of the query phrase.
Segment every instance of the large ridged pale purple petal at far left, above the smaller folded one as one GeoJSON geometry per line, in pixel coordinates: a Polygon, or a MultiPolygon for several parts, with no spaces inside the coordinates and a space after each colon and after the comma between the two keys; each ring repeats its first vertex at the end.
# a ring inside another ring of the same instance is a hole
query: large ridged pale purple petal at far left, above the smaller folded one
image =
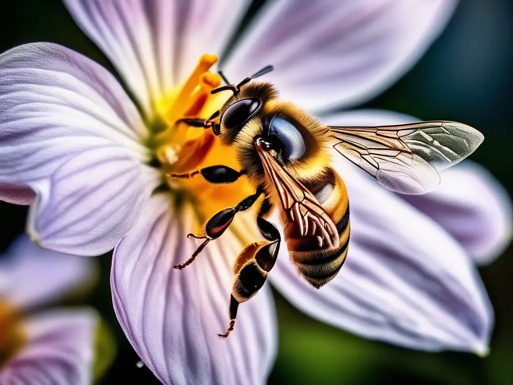
{"type": "MultiPolygon", "coordinates": [[[[106,69],[51,43],[0,55],[0,182],[48,182],[51,173],[86,149],[115,144],[140,161],[147,129],[106,69]]],[[[23,203],[27,192],[21,191],[23,203]]],[[[10,201],[13,199],[11,198],[10,201]]]]}

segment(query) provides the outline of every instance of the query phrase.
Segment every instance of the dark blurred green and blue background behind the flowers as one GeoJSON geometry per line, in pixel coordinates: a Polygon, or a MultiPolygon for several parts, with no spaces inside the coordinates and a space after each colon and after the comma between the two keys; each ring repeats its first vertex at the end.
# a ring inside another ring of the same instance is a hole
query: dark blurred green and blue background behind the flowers
{"type": "MultiPolygon", "coordinates": [[[[2,2],[0,51],[34,42],[59,43],[112,69],[75,26],[58,0],[2,2]]],[[[423,59],[395,86],[365,105],[421,120],[456,120],[478,128],[485,142],[472,159],[490,169],[511,194],[513,152],[513,4],[464,0],[423,59]]],[[[0,202],[0,251],[23,232],[26,207],[0,202]]],[[[491,353],[423,353],[368,341],[314,321],[276,294],[279,355],[269,383],[298,384],[511,384],[513,383],[513,249],[481,268],[496,311],[491,353]]],[[[98,258],[101,279],[89,302],[99,309],[118,345],[101,383],[159,383],[126,340],[112,310],[110,256],[98,258]]]]}

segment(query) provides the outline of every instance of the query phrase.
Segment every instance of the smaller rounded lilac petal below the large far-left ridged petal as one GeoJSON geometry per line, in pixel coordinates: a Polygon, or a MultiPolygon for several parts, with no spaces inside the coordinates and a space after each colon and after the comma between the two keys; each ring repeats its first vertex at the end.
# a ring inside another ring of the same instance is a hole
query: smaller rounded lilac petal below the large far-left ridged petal
{"type": "Polygon", "coordinates": [[[160,183],[159,172],[125,149],[96,147],[57,168],[38,184],[28,230],[37,244],[62,253],[101,255],[132,228],[160,183]]]}

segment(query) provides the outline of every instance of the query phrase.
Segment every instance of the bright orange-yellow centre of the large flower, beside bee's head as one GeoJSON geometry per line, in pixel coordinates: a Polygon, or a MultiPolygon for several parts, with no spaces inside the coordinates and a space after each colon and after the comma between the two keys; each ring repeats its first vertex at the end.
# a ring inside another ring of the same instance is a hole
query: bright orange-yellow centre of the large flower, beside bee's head
{"type": "Polygon", "coordinates": [[[213,185],[201,175],[190,179],[172,179],[168,174],[184,174],[202,167],[225,165],[235,170],[241,166],[234,149],[221,143],[211,128],[192,127],[181,119],[207,120],[228,100],[231,92],[210,94],[221,84],[218,74],[209,71],[217,62],[215,55],[204,54],[184,84],[164,98],[157,107],[166,130],[157,135],[156,155],[167,184],[174,195],[189,199],[201,223],[219,210],[231,207],[254,193],[246,177],[230,185],[213,185]]]}

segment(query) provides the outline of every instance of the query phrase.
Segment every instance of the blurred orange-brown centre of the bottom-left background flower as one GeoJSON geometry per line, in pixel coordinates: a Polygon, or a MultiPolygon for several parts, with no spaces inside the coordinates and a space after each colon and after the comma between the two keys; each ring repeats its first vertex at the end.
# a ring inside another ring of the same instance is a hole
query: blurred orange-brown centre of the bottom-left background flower
{"type": "Polygon", "coordinates": [[[21,349],[25,335],[12,307],[0,300],[0,368],[21,349]]]}

